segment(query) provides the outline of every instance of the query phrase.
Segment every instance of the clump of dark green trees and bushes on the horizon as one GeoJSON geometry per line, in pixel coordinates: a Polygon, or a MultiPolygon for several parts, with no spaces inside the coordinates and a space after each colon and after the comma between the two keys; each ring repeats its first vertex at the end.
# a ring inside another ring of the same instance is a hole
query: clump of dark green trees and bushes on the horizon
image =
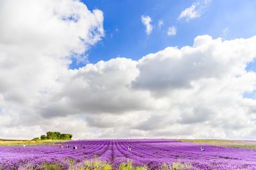
{"type": "Polygon", "coordinates": [[[61,134],[60,132],[47,132],[46,135],[42,134],[40,138],[34,138],[32,140],[37,141],[37,140],[71,140],[72,134],[61,134]]]}

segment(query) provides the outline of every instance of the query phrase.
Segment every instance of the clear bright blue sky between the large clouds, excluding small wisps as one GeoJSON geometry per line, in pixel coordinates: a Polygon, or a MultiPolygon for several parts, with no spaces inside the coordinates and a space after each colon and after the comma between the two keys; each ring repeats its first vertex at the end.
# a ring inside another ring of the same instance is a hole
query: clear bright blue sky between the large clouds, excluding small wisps
{"type": "MultiPolygon", "coordinates": [[[[256,1],[212,0],[207,3],[200,17],[189,21],[177,20],[180,13],[193,3],[204,5],[204,1],[163,0],[163,1],[86,1],[89,10],[99,9],[104,13],[105,36],[87,52],[91,63],[115,57],[138,60],[148,53],[163,50],[167,46],[192,45],[198,35],[208,34],[212,38],[249,38],[256,34],[256,1]],[[145,33],[141,15],[152,18],[152,32],[145,33]],[[158,27],[159,20],[164,24],[158,27]],[[177,34],[167,36],[168,27],[175,26],[177,34]]],[[[84,66],[76,64],[77,68],[84,66]]]]}

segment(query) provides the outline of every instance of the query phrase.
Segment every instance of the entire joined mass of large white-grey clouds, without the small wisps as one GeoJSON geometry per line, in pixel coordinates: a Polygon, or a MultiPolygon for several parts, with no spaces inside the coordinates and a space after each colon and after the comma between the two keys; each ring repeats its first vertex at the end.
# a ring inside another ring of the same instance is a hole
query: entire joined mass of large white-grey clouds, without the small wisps
{"type": "Polygon", "coordinates": [[[255,36],[198,36],[192,46],[72,70],[71,57],[104,36],[102,11],[24,2],[0,5],[0,138],[255,138],[256,101],[243,97],[256,89],[246,71],[255,36]]]}

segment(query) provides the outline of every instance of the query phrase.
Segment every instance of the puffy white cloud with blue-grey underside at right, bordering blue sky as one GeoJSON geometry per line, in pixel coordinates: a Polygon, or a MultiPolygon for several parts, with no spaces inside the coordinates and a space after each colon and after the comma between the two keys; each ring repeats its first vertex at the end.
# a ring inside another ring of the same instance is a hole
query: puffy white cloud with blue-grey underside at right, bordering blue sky
{"type": "Polygon", "coordinates": [[[180,49],[168,47],[160,52],[148,54],[139,60],[140,75],[132,85],[134,88],[159,92],[166,89],[189,89],[196,80],[203,78],[221,78],[227,74],[240,76],[246,63],[255,57],[251,43],[246,43],[248,50],[241,50],[246,48],[246,45],[240,45],[244,41],[222,41],[221,38],[198,36],[193,46],[184,46],[180,49]],[[237,48],[231,50],[230,46],[237,48]]]}

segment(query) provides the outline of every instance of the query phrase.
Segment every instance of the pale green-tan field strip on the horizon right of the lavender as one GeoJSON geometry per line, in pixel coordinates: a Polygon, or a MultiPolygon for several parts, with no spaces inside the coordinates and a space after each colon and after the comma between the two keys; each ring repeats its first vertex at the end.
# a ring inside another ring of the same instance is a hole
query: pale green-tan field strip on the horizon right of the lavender
{"type": "Polygon", "coordinates": [[[193,142],[228,148],[256,149],[256,141],[220,140],[220,139],[180,139],[182,142],[193,142]]]}

